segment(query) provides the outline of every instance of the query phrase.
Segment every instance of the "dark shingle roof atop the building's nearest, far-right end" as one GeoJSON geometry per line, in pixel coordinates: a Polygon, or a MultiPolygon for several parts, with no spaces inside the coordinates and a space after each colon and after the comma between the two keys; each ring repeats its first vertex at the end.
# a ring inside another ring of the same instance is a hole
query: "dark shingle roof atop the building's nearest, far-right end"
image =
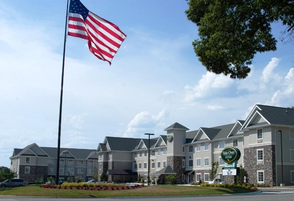
{"type": "Polygon", "coordinates": [[[294,126],[294,109],[274,107],[267,105],[257,105],[258,112],[271,124],[294,126]]]}

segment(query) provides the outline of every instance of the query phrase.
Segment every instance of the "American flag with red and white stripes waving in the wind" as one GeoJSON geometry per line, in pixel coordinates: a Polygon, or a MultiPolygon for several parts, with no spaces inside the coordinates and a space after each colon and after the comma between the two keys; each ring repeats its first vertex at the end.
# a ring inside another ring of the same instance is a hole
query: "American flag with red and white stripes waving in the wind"
{"type": "Polygon", "coordinates": [[[126,38],[118,26],[95,15],[79,0],[69,4],[68,35],[88,40],[90,52],[109,64],[126,38]]]}

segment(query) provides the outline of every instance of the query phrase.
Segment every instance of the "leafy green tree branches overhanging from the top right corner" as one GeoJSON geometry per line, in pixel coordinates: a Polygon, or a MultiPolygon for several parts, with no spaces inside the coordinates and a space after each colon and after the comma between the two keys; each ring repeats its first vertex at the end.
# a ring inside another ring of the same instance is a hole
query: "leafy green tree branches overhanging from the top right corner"
{"type": "Polygon", "coordinates": [[[187,0],[188,20],[198,26],[199,39],[192,44],[209,72],[244,79],[254,55],[275,51],[277,40],[271,23],[281,22],[280,39],[293,43],[293,0],[187,0]]]}

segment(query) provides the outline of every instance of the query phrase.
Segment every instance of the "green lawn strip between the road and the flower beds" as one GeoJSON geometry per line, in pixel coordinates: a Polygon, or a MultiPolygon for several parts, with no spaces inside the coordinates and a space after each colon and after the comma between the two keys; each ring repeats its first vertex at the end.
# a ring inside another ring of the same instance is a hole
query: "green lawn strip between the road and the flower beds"
{"type": "Polygon", "coordinates": [[[56,196],[56,197],[109,197],[109,196],[150,196],[150,195],[204,195],[250,192],[243,189],[229,189],[200,186],[146,186],[129,190],[70,190],[40,188],[29,185],[18,188],[0,188],[0,195],[56,196]]]}

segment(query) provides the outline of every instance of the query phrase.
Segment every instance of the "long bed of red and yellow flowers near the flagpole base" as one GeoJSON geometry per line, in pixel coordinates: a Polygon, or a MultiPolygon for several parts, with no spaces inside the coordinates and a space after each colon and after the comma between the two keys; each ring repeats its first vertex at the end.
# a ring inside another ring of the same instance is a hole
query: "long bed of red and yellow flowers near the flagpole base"
{"type": "Polygon", "coordinates": [[[122,184],[87,184],[87,183],[67,183],[64,182],[62,185],[49,185],[43,184],[42,188],[57,188],[57,189],[74,189],[74,190],[126,190],[133,188],[141,188],[144,185],[122,185],[122,184]]]}

